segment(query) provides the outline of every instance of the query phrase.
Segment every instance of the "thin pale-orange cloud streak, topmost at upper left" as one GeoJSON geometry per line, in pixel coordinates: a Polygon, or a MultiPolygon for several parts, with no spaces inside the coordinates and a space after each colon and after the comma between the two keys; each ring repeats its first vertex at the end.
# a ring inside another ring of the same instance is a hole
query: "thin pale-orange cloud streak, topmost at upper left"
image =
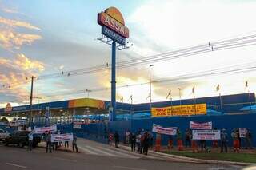
{"type": "Polygon", "coordinates": [[[23,27],[26,29],[40,30],[40,28],[38,28],[38,26],[33,26],[29,22],[22,22],[22,21],[8,19],[8,18],[2,18],[2,17],[0,17],[0,24],[4,24],[4,25],[10,26],[10,27],[23,27]]]}

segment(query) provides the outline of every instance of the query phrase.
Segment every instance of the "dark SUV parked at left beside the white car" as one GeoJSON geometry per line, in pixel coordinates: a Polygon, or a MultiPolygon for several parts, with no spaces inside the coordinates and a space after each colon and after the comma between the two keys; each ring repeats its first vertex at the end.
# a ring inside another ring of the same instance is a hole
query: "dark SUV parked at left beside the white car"
{"type": "MultiPolygon", "coordinates": [[[[16,131],[13,134],[10,134],[9,137],[6,138],[5,144],[8,146],[9,144],[17,144],[18,147],[23,148],[24,146],[29,145],[29,131],[16,131]]],[[[35,148],[40,143],[41,137],[35,136],[33,137],[32,147],[35,148]]]]}

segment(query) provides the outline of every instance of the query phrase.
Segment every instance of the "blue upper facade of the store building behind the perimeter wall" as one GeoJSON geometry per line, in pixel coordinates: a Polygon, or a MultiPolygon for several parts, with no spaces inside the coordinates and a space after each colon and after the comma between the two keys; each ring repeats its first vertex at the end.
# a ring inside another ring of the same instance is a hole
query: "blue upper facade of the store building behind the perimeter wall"
{"type": "MultiPolygon", "coordinates": [[[[222,107],[220,105],[220,97],[202,97],[197,98],[196,103],[206,103],[207,109],[213,109],[222,113],[239,113],[240,109],[246,106],[255,105],[255,94],[254,93],[242,93],[222,96],[222,107]],[[250,96],[250,98],[249,98],[250,96]]],[[[49,103],[34,104],[33,110],[46,109],[68,109],[69,101],[54,101],[49,103]]],[[[193,105],[194,99],[182,100],[182,105],[193,105]]],[[[172,105],[180,105],[180,101],[172,101],[172,105]]],[[[110,107],[110,101],[105,101],[106,109],[110,107]]],[[[117,113],[126,114],[126,113],[139,113],[146,112],[150,113],[150,103],[144,104],[128,104],[128,103],[116,103],[117,113]]],[[[166,107],[170,106],[170,101],[154,102],[152,107],[166,107]]],[[[13,107],[13,112],[22,112],[29,111],[30,105],[22,105],[13,107]]],[[[4,109],[0,109],[0,113],[4,113],[4,109]]]]}

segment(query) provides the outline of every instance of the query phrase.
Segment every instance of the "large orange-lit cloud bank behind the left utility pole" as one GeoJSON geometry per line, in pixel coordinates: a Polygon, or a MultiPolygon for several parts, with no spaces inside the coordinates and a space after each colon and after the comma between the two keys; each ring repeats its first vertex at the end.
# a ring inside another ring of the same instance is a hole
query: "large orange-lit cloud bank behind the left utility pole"
{"type": "Polygon", "coordinates": [[[41,61],[31,60],[22,53],[13,59],[0,57],[1,101],[26,101],[30,96],[30,80],[26,77],[38,76],[44,69],[41,61]]]}

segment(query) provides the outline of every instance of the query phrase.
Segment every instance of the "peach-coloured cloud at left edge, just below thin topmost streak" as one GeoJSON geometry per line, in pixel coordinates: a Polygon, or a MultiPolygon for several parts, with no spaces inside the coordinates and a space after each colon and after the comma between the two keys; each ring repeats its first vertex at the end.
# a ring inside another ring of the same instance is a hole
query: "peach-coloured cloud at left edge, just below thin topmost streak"
{"type": "Polygon", "coordinates": [[[41,39],[38,34],[21,34],[14,30],[0,30],[0,45],[5,49],[20,49],[22,45],[31,45],[41,39]]]}

